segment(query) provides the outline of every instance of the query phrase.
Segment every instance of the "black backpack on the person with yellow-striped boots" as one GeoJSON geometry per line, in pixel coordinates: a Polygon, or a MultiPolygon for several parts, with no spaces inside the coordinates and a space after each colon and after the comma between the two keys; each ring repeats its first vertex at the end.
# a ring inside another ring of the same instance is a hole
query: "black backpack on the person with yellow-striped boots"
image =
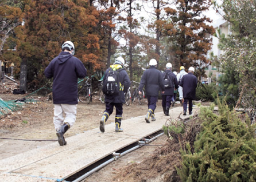
{"type": "Polygon", "coordinates": [[[119,96],[119,72],[122,69],[113,70],[110,68],[109,72],[106,74],[106,79],[103,82],[102,91],[106,96],[119,96]]]}

